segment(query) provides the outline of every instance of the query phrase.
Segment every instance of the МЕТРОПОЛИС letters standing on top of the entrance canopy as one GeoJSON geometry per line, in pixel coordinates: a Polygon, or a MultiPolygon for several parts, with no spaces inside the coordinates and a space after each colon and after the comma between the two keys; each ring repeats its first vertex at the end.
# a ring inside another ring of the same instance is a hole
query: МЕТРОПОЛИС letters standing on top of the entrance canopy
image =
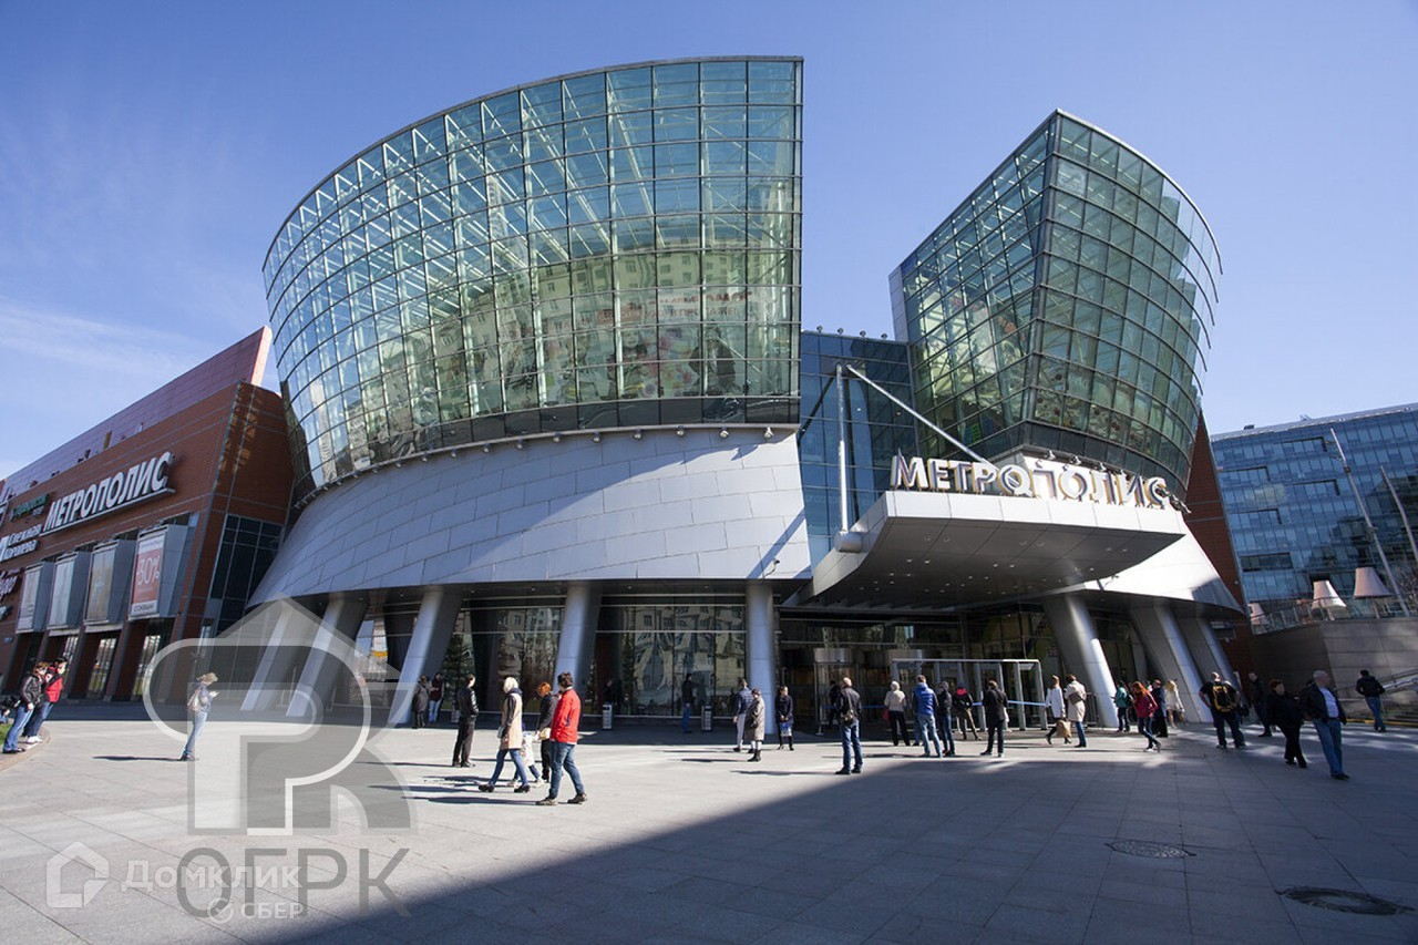
{"type": "Polygon", "coordinates": [[[1171,490],[1160,475],[1143,478],[1127,472],[1071,465],[1055,460],[995,465],[966,460],[923,460],[896,454],[893,490],[1005,495],[1012,498],[1071,499],[1099,505],[1170,508],[1171,490]]]}

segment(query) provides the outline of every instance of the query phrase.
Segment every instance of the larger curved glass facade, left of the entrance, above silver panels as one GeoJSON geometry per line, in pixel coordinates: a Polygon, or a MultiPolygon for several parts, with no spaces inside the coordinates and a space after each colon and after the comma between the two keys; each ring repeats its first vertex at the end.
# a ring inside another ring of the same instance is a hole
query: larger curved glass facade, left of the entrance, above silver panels
{"type": "Polygon", "coordinates": [[[462,443],[795,423],[801,61],[520,87],[379,142],[264,272],[298,492],[462,443]]]}

